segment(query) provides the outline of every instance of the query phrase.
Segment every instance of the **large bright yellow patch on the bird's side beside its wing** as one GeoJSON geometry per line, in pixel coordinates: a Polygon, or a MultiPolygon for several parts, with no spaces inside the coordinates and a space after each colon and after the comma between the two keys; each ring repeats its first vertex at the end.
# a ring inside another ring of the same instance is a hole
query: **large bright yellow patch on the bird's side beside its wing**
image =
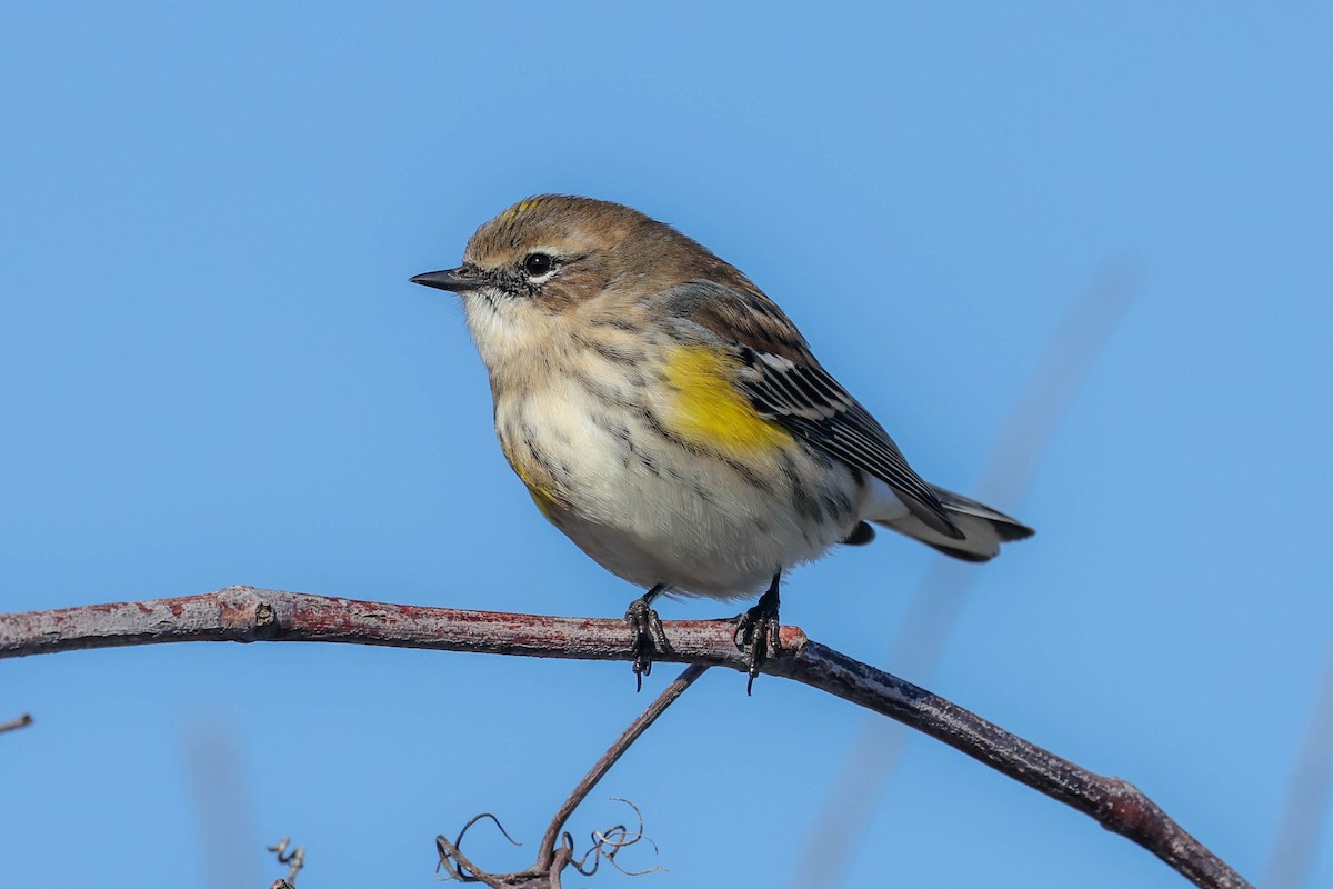
{"type": "Polygon", "coordinates": [[[754,452],[778,448],[792,436],[756,413],[732,383],[726,359],[698,347],[680,347],[666,361],[666,383],[677,391],[670,432],[704,448],[754,452]]]}

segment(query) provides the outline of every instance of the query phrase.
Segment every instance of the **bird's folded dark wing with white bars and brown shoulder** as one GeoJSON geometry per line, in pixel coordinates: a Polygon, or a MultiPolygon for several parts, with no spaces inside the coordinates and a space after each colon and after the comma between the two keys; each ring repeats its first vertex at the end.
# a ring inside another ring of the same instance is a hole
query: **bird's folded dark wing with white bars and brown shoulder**
{"type": "Polygon", "coordinates": [[[961,540],[940,498],[884,427],[820,367],[796,325],[748,280],[737,284],[690,281],[663,295],[661,308],[722,341],[737,357],[737,384],[761,416],[882,480],[921,521],[961,540]]]}

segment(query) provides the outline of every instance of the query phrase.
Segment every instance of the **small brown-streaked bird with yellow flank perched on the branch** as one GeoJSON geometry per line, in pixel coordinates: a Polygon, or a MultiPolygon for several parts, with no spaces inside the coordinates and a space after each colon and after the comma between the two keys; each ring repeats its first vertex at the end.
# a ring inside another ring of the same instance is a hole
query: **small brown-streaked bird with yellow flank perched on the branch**
{"type": "Polygon", "coordinates": [[[928,484],[745,275],[669,225],[532,197],[416,284],[463,297],[496,433],[537,508],[612,573],[636,673],[665,646],[661,593],[734,598],[750,681],[777,645],[782,572],[866,522],[986,561],[1033,532],[928,484]]]}

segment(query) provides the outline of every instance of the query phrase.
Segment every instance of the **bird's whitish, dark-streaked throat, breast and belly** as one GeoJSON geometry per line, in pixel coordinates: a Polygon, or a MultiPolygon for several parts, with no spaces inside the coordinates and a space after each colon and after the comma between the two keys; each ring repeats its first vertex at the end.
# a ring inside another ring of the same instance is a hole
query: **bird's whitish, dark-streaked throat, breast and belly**
{"type": "Polygon", "coordinates": [[[856,525],[864,492],[844,468],[797,448],[782,470],[758,460],[740,472],[689,450],[648,417],[668,396],[653,373],[632,385],[623,365],[579,348],[559,321],[500,312],[469,305],[468,324],[492,372],[501,445],[529,485],[541,477],[555,494],[551,521],[608,570],[643,589],[750,596],[856,525]],[[812,501],[834,500],[846,509],[812,521],[812,501]]]}

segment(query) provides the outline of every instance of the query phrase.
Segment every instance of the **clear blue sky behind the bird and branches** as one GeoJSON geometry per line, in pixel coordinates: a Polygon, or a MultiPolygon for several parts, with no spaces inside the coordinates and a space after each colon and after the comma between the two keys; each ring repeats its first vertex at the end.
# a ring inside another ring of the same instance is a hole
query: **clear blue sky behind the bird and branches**
{"type": "MultiPolygon", "coordinates": [[[[960,490],[1124,257],[1140,297],[996,504],[1038,534],[980,569],[929,685],[1257,880],[1333,642],[1330,41],[1317,4],[15,5],[0,605],[248,582],[620,614],[635,590],[500,456],[453,297],[407,283],[532,193],[632,204],[745,269],[960,490]]],[[[784,617],[880,660],[937,558],[881,536],[797,572],[784,617]]],[[[431,885],[435,834],[480,810],[528,845],[479,832],[476,857],[519,868],[645,704],[624,664],[7,661],[0,718],[37,724],[0,737],[0,884],[268,885],[291,834],[299,885],[431,885]]],[[[632,798],[669,873],[587,882],[785,884],[860,724],[710,672],[572,825],[632,798]]],[[[928,738],[865,836],[846,885],[1184,885],[928,738]]]]}

